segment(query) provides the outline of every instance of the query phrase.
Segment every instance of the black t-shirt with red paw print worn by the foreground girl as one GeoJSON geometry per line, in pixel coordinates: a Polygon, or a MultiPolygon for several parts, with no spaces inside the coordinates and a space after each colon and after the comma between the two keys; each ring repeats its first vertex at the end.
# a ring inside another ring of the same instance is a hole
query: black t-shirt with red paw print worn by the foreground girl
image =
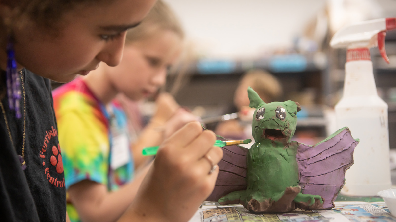
{"type": "MultiPolygon", "coordinates": [[[[1,80],[5,82],[4,71],[1,80]]],[[[12,146],[4,115],[0,112],[0,220],[65,221],[66,191],[61,150],[48,79],[22,70],[25,88],[25,149],[27,165],[22,170],[17,155],[22,153],[23,93],[20,119],[2,99],[15,147],[12,146]]],[[[4,84],[2,84],[4,85],[4,84]]]]}

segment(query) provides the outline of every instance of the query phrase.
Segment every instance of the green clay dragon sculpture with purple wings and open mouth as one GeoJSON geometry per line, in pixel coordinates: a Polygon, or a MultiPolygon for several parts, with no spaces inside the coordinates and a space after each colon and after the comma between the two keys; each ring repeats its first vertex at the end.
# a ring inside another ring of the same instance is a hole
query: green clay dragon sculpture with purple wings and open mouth
{"type": "Polygon", "coordinates": [[[291,141],[299,103],[264,103],[249,87],[250,107],[256,108],[250,149],[223,147],[220,173],[209,201],[242,204],[255,213],[300,209],[331,209],[353,164],[353,139],[347,127],[316,145],[291,141]]]}

